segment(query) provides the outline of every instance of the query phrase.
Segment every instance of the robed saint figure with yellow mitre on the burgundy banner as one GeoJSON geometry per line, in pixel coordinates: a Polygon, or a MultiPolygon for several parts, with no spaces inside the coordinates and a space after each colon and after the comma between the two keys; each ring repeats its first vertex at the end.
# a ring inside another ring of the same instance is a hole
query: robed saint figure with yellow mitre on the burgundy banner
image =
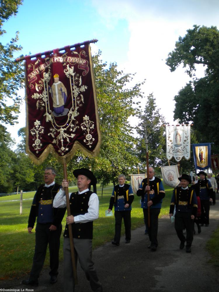
{"type": "Polygon", "coordinates": [[[53,77],[54,83],[51,87],[49,87],[49,92],[51,93],[53,99],[53,114],[56,117],[63,116],[69,111],[64,108],[67,99],[67,90],[64,84],[59,81],[58,74],[55,74],[53,77]]]}

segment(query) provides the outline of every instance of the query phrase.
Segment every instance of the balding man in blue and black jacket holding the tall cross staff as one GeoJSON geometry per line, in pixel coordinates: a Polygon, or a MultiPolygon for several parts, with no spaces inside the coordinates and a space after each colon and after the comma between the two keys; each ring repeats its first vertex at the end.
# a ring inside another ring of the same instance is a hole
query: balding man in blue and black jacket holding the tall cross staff
{"type": "Polygon", "coordinates": [[[143,208],[144,218],[148,226],[148,208],[150,208],[150,227],[148,227],[148,235],[151,244],[148,248],[156,251],[158,246],[158,216],[160,214],[162,199],[165,197],[164,186],[161,179],[154,177],[154,168],[149,167],[149,185],[147,179],[143,179],[137,196],[141,196],[141,208],[143,208]],[[147,191],[150,191],[150,201],[147,201],[147,191]]]}

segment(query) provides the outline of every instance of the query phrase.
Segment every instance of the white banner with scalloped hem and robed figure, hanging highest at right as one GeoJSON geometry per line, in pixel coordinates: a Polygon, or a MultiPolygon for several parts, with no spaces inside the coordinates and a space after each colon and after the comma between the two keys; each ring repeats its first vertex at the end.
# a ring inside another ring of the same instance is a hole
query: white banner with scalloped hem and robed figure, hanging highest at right
{"type": "Polygon", "coordinates": [[[190,125],[166,125],[166,158],[180,161],[190,159],[190,125]]]}

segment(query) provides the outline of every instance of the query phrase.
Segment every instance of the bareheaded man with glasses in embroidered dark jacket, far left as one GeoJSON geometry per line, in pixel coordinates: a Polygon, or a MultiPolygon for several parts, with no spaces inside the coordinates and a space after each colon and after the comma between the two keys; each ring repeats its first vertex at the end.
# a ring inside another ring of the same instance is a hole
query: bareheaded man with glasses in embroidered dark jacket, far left
{"type": "Polygon", "coordinates": [[[66,208],[54,208],[53,199],[59,191],[60,185],[55,183],[54,168],[47,167],[44,171],[45,184],[40,185],[34,195],[28,219],[28,233],[31,234],[36,223],[36,244],[33,265],[29,280],[23,280],[22,284],[38,286],[39,274],[46,257],[46,249],[49,244],[50,252],[50,283],[57,281],[59,265],[60,235],[62,232],[62,219],[66,208]]]}

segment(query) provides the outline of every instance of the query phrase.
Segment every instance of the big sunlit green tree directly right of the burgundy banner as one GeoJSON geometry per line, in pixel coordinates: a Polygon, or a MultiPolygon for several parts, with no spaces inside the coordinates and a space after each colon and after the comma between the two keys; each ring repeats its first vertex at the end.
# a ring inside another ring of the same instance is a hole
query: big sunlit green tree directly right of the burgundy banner
{"type": "Polygon", "coordinates": [[[102,63],[100,53],[93,57],[93,65],[102,138],[100,153],[96,158],[89,158],[78,152],[69,168],[91,168],[98,181],[107,185],[115,182],[120,173],[130,173],[138,164],[136,139],[128,117],[138,113],[133,99],[142,97],[141,84],[128,86],[132,74],[119,71],[114,63],[109,66],[102,63]]]}

